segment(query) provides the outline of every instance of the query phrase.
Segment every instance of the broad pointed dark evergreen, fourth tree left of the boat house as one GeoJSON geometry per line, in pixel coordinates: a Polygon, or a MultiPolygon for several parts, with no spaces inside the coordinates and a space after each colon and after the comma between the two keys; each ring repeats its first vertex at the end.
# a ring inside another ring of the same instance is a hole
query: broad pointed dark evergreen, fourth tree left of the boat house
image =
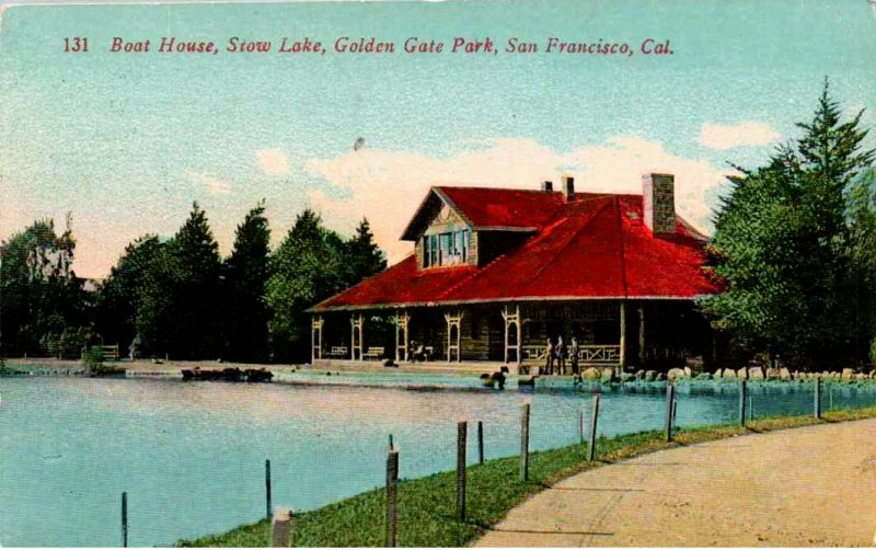
{"type": "Polygon", "coordinates": [[[214,358],[219,332],[219,245],[197,203],[146,272],[137,330],[147,353],[214,358]]]}

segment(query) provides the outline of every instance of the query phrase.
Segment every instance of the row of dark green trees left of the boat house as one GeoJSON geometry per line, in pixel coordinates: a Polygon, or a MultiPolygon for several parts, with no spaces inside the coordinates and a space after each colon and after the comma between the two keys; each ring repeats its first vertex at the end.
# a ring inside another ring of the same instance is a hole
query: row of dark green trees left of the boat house
{"type": "Polygon", "coordinates": [[[264,203],[237,227],[222,259],[195,203],[170,239],[138,238],[108,277],[87,290],[72,270],[68,217],[57,234],[35,221],[2,243],[3,355],[79,356],[90,345],[134,342],[141,356],[300,362],[310,356],[304,309],[385,268],[367,219],[345,239],[306,209],[276,250],[264,203]]]}

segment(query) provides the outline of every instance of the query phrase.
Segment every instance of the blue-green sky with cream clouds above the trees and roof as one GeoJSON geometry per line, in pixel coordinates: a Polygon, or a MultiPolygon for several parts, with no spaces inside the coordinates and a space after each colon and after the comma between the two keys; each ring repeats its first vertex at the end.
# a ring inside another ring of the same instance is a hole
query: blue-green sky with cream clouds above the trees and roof
{"type": "Polygon", "coordinates": [[[71,211],[83,276],[142,233],[172,234],[193,200],[224,252],[264,197],[275,242],[313,206],[342,232],[368,216],[396,261],[430,184],[535,187],[561,173],[636,192],[641,173],[671,171],[679,210],[707,230],[726,161],[756,165],[797,135],[825,77],[848,112],[876,106],[865,0],[42,5],[1,24],[0,239],[71,211]],[[673,55],[108,51],[114,36],[276,49],[344,35],[634,49],[650,37],[673,55]],[[65,36],[88,36],[90,53],[65,54],[65,36]]]}

